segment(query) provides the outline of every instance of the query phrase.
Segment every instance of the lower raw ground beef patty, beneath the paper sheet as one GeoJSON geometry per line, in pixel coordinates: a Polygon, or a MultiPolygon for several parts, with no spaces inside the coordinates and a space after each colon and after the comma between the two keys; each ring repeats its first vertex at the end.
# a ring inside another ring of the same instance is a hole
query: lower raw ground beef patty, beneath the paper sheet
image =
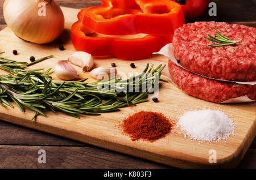
{"type": "Polygon", "coordinates": [[[204,78],[184,68],[168,63],[172,81],[188,95],[211,102],[223,102],[230,98],[247,95],[251,100],[256,100],[256,85],[220,82],[204,78]]]}

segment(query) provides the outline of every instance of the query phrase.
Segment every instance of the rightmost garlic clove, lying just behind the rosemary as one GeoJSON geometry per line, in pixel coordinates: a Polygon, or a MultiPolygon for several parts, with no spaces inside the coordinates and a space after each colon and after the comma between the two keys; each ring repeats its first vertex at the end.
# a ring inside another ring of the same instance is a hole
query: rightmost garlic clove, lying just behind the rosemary
{"type": "Polygon", "coordinates": [[[108,79],[117,74],[117,69],[112,66],[101,66],[90,71],[90,76],[96,80],[108,79]]]}

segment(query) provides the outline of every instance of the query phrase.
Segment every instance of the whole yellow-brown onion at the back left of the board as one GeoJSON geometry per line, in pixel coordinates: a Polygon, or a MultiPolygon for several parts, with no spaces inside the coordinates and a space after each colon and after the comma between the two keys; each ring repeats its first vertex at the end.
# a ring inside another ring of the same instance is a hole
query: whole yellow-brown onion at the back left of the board
{"type": "Polygon", "coordinates": [[[64,29],[64,15],[54,0],[5,0],[3,16],[8,27],[23,40],[44,44],[64,29]]]}

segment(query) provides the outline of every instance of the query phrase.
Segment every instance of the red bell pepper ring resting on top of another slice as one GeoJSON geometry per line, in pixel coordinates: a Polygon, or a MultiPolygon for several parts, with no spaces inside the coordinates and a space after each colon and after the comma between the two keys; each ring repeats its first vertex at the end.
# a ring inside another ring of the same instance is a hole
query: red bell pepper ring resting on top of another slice
{"type": "MultiPolygon", "coordinates": [[[[181,6],[170,0],[135,0],[139,8],[114,8],[112,0],[102,2],[86,11],[82,22],[97,33],[170,35],[185,23],[181,6]]],[[[125,7],[128,1],[121,2],[125,7]]]]}

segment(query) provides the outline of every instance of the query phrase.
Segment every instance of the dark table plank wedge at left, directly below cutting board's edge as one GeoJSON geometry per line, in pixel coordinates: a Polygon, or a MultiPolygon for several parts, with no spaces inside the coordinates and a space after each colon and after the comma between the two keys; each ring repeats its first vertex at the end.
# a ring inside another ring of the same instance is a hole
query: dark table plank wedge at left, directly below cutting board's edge
{"type": "Polygon", "coordinates": [[[61,146],[90,146],[88,144],[61,138],[59,136],[13,125],[0,121],[1,145],[61,145],[61,146]]]}

